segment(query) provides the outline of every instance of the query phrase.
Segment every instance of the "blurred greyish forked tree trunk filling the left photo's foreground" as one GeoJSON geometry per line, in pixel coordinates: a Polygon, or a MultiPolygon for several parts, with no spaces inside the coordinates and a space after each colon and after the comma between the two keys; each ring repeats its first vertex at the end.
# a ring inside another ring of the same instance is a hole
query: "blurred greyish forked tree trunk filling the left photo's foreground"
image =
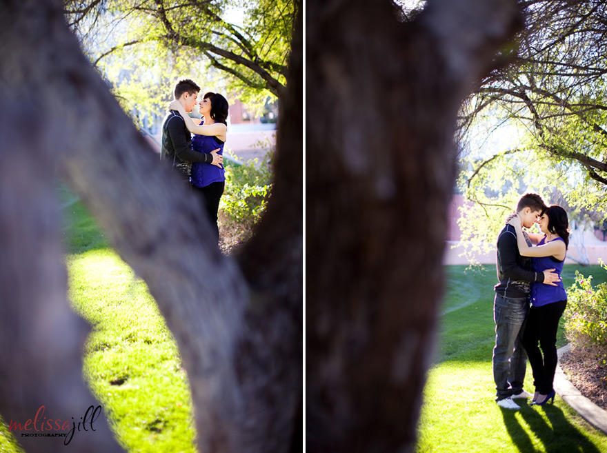
{"type": "MultiPolygon", "coordinates": [[[[274,246],[254,257],[243,250],[239,259],[248,267],[242,272],[235,259],[219,252],[198,199],[161,165],[83,57],[61,1],[5,5],[0,19],[0,92],[8,117],[0,125],[5,137],[0,240],[8,252],[0,261],[0,282],[6,283],[0,329],[3,418],[32,414],[39,401],[74,416],[92,403],[81,379],[87,329],[66,301],[52,197],[59,173],[112,247],[146,281],[165,316],[188,373],[199,451],[288,451],[301,417],[301,211],[283,219],[285,228],[275,238],[267,236],[275,231],[259,228],[255,240],[274,246]],[[36,117],[42,121],[33,125],[36,117]],[[272,283],[280,277],[276,289],[272,283]],[[57,351],[60,361],[43,348],[57,351]],[[76,390],[60,395],[57,388],[63,387],[76,390]]],[[[299,75],[297,70],[292,75],[301,93],[299,52],[293,52],[299,75]]],[[[281,128],[281,136],[301,137],[301,121],[283,121],[281,128]]],[[[301,158],[301,138],[299,143],[295,150],[286,147],[297,139],[279,146],[277,174],[283,166],[292,172],[290,159],[301,158]]],[[[301,199],[297,180],[282,189],[301,199]]],[[[270,205],[281,202],[275,199],[270,205]]],[[[83,443],[81,451],[97,451],[95,445],[101,445],[98,451],[119,451],[111,436],[103,439],[103,445],[83,443]]],[[[43,444],[32,442],[28,451],[46,451],[39,450],[43,444]]]]}

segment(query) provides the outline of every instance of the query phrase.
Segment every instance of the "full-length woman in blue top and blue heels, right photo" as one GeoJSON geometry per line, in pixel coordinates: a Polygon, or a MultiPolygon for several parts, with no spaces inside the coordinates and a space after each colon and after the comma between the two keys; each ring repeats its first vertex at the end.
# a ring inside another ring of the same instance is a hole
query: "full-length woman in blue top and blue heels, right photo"
{"type": "MultiPolygon", "coordinates": [[[[521,221],[518,217],[508,223],[517,231],[519,252],[523,256],[533,256],[533,267],[536,272],[555,269],[561,274],[569,245],[569,220],[567,213],[558,205],[546,208],[537,223],[544,233],[537,246],[529,246],[523,236],[521,221]]],[[[523,347],[529,357],[535,395],[533,404],[544,405],[548,400],[555,401],[553,382],[557,368],[557,328],[559,319],[565,310],[567,293],[563,281],[556,285],[533,283],[531,287],[531,308],[523,332],[523,347]],[[541,347],[541,351],[538,348],[541,347]],[[544,356],[542,356],[542,352],[544,356]]]]}

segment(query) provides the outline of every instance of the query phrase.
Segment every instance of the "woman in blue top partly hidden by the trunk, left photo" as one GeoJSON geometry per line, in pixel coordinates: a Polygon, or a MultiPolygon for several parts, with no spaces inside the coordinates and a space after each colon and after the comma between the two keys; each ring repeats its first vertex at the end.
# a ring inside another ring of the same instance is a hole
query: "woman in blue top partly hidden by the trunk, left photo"
{"type": "MultiPolygon", "coordinates": [[[[195,134],[192,138],[192,148],[195,151],[209,153],[219,148],[217,154],[223,155],[223,144],[226,143],[228,130],[228,101],[221,94],[208,92],[199,102],[199,112],[203,116],[203,123],[197,124],[191,119],[179,101],[172,101],[169,108],[178,110],[186,127],[195,134]]],[[[211,221],[211,225],[219,241],[219,226],[217,225],[217,212],[219,199],[226,185],[226,176],[223,167],[210,163],[192,163],[192,187],[200,194],[204,208],[211,221]]]]}

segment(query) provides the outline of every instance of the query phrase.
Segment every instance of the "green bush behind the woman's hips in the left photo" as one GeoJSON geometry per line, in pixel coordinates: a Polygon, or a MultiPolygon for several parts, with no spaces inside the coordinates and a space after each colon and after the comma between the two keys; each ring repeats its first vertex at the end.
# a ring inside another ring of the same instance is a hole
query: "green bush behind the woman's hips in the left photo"
{"type": "Polygon", "coordinates": [[[250,235],[266,209],[272,188],[271,159],[272,152],[268,152],[261,162],[253,159],[242,165],[226,165],[226,189],[219,209],[226,214],[226,226],[241,233],[241,239],[250,235]]]}

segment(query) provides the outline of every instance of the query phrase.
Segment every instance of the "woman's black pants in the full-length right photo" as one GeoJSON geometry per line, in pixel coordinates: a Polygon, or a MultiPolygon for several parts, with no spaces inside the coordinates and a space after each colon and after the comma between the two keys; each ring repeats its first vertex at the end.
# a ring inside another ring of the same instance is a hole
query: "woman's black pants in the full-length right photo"
{"type": "Polygon", "coordinates": [[[553,391],[557,370],[557,329],[566,305],[567,301],[559,301],[531,307],[527,315],[522,343],[533,370],[535,391],[543,395],[553,391]]]}

